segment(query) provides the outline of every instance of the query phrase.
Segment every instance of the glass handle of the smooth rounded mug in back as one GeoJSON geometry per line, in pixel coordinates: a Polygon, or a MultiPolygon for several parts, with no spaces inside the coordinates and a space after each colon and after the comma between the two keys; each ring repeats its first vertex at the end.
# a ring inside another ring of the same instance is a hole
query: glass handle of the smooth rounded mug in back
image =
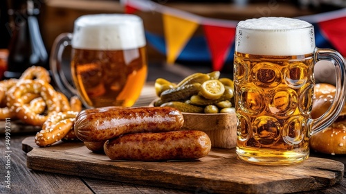
{"type": "Polygon", "coordinates": [[[69,91],[70,94],[77,95],[77,90],[69,83],[64,71],[62,71],[62,53],[64,53],[66,46],[71,45],[71,39],[71,33],[62,33],[55,39],[51,51],[50,68],[53,74],[53,80],[60,91],[64,94],[69,91]]]}

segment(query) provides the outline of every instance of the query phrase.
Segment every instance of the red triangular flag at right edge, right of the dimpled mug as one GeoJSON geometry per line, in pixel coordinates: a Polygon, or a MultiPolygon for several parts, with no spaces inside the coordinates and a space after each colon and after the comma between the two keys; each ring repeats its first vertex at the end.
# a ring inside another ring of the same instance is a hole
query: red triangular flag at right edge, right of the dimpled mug
{"type": "Polygon", "coordinates": [[[319,26],[329,42],[341,55],[346,56],[346,17],[322,21],[319,26]]]}

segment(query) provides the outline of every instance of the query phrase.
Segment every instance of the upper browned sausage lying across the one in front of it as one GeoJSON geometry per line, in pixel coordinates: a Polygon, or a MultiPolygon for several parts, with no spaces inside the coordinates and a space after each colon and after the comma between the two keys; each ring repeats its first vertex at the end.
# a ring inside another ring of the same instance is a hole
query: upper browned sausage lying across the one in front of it
{"type": "Polygon", "coordinates": [[[177,131],[183,123],[183,114],[172,107],[86,110],[75,118],[75,134],[95,142],[128,133],[177,131]]]}

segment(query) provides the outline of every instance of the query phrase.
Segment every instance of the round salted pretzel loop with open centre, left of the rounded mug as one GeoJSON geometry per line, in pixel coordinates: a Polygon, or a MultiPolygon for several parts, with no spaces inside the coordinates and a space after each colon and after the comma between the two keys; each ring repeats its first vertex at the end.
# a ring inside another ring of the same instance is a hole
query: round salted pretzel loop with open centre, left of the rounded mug
{"type": "Polygon", "coordinates": [[[17,117],[29,125],[42,126],[48,115],[60,112],[60,101],[57,100],[57,92],[48,83],[42,80],[21,80],[8,91],[8,107],[15,111],[17,117]],[[27,93],[39,94],[46,103],[47,115],[36,114],[26,105],[22,96],[27,93]]]}

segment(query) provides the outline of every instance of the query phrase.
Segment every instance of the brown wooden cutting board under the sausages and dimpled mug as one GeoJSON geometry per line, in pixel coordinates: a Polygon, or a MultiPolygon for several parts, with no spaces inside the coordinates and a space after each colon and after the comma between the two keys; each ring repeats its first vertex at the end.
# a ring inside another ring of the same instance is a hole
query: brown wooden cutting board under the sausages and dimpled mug
{"type": "Polygon", "coordinates": [[[289,166],[257,166],[239,161],[235,150],[212,149],[193,161],[111,161],[83,143],[57,142],[39,148],[34,137],[22,142],[27,166],[51,173],[116,180],[211,193],[293,193],[332,186],[343,179],[339,161],[309,157],[289,166]]]}

